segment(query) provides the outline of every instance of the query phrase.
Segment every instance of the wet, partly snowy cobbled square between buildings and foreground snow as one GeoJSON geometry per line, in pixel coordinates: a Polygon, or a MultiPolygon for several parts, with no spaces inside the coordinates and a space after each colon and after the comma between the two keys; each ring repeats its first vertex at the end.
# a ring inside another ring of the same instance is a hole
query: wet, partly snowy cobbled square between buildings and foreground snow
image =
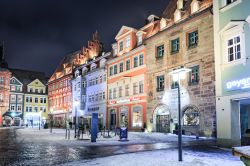
{"type": "MultiPolygon", "coordinates": [[[[65,140],[65,132],[63,130],[55,131],[57,133],[50,135],[49,130],[0,129],[0,165],[60,165],[134,152],[177,149],[177,141],[174,141],[173,138],[169,139],[170,141],[159,143],[151,142],[142,144],[139,139],[133,141],[132,139],[137,138],[140,133],[134,134],[137,137],[131,136],[131,141],[119,142],[111,139],[102,140],[98,144],[90,143],[89,140],[75,140],[73,132],[71,133],[71,140],[65,140]]],[[[145,140],[147,139],[145,138],[145,140]]],[[[189,138],[185,142],[184,139],[184,150],[199,151],[204,152],[204,154],[224,154],[225,158],[230,156],[230,151],[210,146],[213,140],[207,142],[188,140],[189,138]]]]}

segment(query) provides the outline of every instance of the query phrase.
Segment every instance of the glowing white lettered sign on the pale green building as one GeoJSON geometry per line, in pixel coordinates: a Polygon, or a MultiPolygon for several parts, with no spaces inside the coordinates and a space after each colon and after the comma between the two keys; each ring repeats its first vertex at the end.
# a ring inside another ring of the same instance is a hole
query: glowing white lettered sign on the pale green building
{"type": "Polygon", "coordinates": [[[226,83],[228,90],[238,90],[250,88],[250,77],[242,78],[239,80],[228,81],[226,83]]]}

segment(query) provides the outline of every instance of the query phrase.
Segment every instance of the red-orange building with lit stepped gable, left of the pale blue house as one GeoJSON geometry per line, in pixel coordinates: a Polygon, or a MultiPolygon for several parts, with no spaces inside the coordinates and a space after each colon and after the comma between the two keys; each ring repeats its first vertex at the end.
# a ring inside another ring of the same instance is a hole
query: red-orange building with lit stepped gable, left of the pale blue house
{"type": "Polygon", "coordinates": [[[73,70],[102,51],[98,33],[95,32],[93,39],[88,41],[87,47],[64,57],[56,71],[48,81],[49,115],[53,118],[54,126],[65,126],[67,119],[72,119],[72,87],[73,70]]]}

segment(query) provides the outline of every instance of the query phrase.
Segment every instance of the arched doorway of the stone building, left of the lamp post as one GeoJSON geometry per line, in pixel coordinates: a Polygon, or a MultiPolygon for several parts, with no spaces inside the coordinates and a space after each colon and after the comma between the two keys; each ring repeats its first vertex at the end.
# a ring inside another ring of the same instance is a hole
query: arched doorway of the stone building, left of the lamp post
{"type": "Polygon", "coordinates": [[[153,115],[154,131],[170,132],[170,111],[166,105],[156,107],[153,115]]]}

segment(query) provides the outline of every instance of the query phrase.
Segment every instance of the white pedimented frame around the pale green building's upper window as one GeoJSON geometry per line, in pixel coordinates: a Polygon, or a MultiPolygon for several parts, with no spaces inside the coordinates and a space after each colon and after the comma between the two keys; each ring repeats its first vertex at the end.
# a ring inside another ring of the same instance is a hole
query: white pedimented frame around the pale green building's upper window
{"type": "Polygon", "coordinates": [[[244,21],[230,22],[220,31],[222,43],[222,64],[223,65],[237,65],[246,64],[246,47],[245,47],[245,32],[244,21]],[[240,36],[241,58],[234,61],[228,61],[228,40],[235,36],[240,36]]]}

